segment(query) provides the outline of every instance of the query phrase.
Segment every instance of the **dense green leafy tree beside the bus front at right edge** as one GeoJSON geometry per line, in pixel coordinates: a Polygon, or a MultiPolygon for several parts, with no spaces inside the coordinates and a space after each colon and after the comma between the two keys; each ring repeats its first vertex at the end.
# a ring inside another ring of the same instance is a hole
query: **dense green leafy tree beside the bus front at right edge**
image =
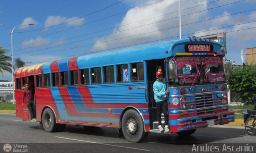
{"type": "Polygon", "coordinates": [[[247,104],[253,104],[252,98],[256,97],[256,65],[232,70],[232,77],[227,80],[229,90],[235,92],[234,100],[242,100],[247,104]]]}

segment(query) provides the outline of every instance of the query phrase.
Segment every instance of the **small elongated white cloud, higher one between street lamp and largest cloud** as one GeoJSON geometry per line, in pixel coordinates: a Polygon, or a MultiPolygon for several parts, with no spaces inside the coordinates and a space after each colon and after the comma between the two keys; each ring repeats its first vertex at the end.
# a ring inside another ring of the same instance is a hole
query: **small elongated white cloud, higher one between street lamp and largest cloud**
{"type": "Polygon", "coordinates": [[[78,18],[78,17],[72,17],[72,18],[66,18],[61,16],[48,16],[48,18],[45,21],[44,27],[50,27],[55,26],[58,24],[65,23],[67,26],[79,26],[84,23],[84,18],[78,18]]]}

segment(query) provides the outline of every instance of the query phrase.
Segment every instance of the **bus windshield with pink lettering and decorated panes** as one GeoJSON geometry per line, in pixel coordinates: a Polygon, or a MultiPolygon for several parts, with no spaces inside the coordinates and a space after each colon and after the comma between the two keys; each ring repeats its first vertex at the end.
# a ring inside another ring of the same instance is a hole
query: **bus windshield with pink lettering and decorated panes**
{"type": "Polygon", "coordinates": [[[173,86],[191,86],[192,84],[223,83],[225,73],[222,57],[175,57],[177,77],[173,86]]]}

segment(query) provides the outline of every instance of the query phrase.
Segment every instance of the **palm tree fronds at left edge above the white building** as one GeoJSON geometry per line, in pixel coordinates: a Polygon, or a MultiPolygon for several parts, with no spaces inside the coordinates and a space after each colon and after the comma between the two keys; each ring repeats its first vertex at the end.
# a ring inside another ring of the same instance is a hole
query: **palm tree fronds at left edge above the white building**
{"type": "Polygon", "coordinates": [[[4,54],[8,53],[7,49],[3,49],[0,47],[0,73],[4,75],[4,71],[7,71],[12,74],[12,64],[9,61],[12,61],[10,56],[6,56],[4,54]]]}

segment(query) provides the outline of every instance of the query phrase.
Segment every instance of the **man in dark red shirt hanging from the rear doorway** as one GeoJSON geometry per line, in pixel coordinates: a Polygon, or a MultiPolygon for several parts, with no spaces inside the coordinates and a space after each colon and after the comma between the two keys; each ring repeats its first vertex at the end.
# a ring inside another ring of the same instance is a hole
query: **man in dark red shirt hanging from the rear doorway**
{"type": "Polygon", "coordinates": [[[29,87],[29,83],[26,83],[25,90],[22,96],[22,106],[24,106],[24,98],[26,97],[26,103],[30,112],[32,121],[36,121],[36,106],[34,105],[34,91],[29,87]]]}

